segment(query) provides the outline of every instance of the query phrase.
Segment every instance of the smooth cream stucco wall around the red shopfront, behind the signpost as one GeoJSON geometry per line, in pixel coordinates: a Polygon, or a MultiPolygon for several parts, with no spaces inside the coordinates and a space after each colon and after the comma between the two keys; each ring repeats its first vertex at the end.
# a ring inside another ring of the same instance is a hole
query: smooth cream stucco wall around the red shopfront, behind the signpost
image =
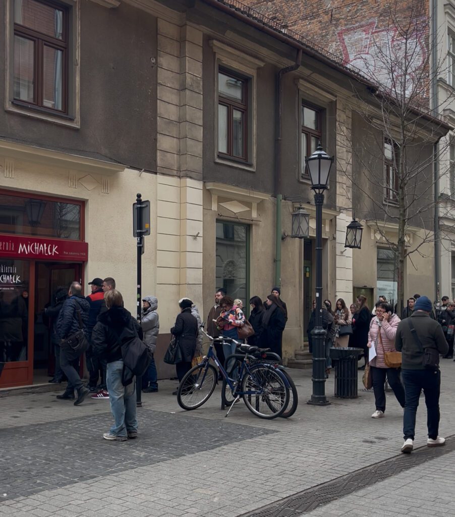
{"type": "MultiPolygon", "coordinates": [[[[136,313],[136,239],[133,237],[132,205],[136,193],[150,200],[152,232],[145,238],[143,255],[143,294],[155,292],[156,175],[124,170],[111,175],[68,170],[43,163],[11,160],[13,177],[1,177],[0,187],[85,201],[85,241],[88,242],[87,282],[94,277],[113,277],[124,297],[125,307],[136,313]]],[[[0,165],[5,157],[0,157],[0,165]]]]}

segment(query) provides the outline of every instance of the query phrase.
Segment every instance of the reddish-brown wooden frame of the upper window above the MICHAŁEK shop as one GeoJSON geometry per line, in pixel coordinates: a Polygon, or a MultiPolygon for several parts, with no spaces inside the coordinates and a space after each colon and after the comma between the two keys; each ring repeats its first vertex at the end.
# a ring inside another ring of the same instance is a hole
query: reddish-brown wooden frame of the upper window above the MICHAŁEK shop
{"type": "Polygon", "coordinates": [[[14,53],[14,37],[19,36],[34,42],[34,77],[35,84],[33,90],[34,102],[27,102],[13,97],[13,104],[23,106],[26,108],[36,109],[45,113],[52,113],[54,115],[68,115],[68,92],[69,92],[69,77],[68,77],[68,56],[69,56],[69,18],[70,7],[64,4],[57,4],[50,0],[35,0],[39,4],[43,4],[63,12],[62,20],[62,38],[53,38],[46,34],[25,27],[19,23],[13,23],[13,53],[14,53]],[[57,110],[44,105],[43,90],[44,90],[44,45],[55,50],[62,51],[62,84],[61,84],[61,104],[62,109],[57,110]]]}

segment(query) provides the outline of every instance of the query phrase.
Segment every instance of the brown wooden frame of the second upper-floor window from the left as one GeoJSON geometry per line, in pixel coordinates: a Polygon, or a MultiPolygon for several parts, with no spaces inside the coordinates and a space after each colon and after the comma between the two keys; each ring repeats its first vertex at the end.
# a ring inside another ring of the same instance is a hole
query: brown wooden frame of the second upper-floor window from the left
{"type": "MultiPolygon", "coordinates": [[[[223,95],[219,92],[219,85],[217,88],[217,94],[218,94],[218,106],[221,104],[222,106],[225,106],[228,109],[228,152],[222,153],[218,149],[218,157],[227,159],[227,160],[233,160],[233,161],[239,161],[241,163],[248,163],[248,113],[249,113],[249,79],[242,77],[242,75],[239,75],[235,72],[232,72],[232,70],[229,70],[227,68],[224,68],[222,66],[218,66],[217,74],[223,73],[224,75],[227,75],[228,77],[232,79],[236,79],[237,81],[242,81],[243,87],[242,87],[242,97],[245,99],[244,103],[235,101],[233,99],[230,99],[228,97],[223,97],[223,95]],[[235,156],[232,154],[233,149],[233,110],[238,110],[242,112],[242,123],[244,127],[244,139],[243,139],[243,156],[235,156]]],[[[218,131],[219,131],[219,115],[217,115],[218,120],[218,131]]],[[[216,143],[218,146],[218,142],[216,143]]]]}

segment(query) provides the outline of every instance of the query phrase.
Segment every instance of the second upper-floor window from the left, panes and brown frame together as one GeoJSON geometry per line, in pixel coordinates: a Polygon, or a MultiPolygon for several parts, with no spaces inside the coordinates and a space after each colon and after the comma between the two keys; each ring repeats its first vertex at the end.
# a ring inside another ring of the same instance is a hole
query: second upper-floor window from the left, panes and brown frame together
{"type": "Polygon", "coordinates": [[[218,70],[218,156],[248,159],[248,80],[218,70]]]}

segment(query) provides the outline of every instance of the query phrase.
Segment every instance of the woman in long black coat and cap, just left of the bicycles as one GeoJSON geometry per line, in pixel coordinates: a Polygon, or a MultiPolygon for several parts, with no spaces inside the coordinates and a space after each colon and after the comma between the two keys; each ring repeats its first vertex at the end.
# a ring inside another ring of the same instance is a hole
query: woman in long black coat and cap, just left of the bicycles
{"type": "MultiPolygon", "coordinates": [[[[197,320],[191,313],[193,302],[189,298],[179,300],[180,314],[177,315],[174,327],[170,333],[178,339],[178,354],[176,359],[176,371],[179,382],[185,373],[191,370],[191,361],[196,352],[196,342],[198,334],[197,320]]],[[[177,390],[172,392],[177,395],[177,390]]]]}

